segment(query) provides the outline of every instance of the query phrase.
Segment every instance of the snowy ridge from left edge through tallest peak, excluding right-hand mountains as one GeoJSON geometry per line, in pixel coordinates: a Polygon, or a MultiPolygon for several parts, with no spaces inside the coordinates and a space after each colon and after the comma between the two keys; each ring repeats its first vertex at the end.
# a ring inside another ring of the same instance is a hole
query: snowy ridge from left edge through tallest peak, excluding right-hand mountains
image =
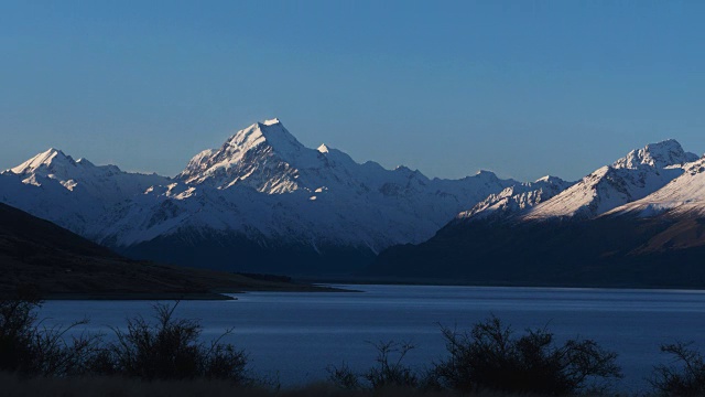
{"type": "Polygon", "coordinates": [[[325,144],[304,147],[272,119],[202,151],[174,179],[52,149],[3,172],[0,198],[118,249],[217,235],[378,253],[430,238],[463,208],[516,183],[491,172],[431,180],[405,167],[359,164],[325,144]]]}

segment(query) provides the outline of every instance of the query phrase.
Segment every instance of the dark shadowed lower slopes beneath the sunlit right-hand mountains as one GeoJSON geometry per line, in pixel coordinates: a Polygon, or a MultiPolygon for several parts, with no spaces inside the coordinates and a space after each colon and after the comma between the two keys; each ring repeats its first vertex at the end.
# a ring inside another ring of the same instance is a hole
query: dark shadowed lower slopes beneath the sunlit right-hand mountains
{"type": "Polygon", "coordinates": [[[705,288],[705,219],[456,222],[384,250],[377,279],[473,285],[705,288]]]}

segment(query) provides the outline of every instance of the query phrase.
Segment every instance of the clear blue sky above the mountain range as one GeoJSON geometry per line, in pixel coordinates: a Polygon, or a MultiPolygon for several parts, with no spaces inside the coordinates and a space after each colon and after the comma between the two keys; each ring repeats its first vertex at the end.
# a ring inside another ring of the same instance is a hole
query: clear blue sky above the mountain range
{"type": "Polygon", "coordinates": [[[2,1],[0,169],[56,147],[173,175],[271,117],[442,178],[702,154],[703,21],[702,1],[2,1]]]}

